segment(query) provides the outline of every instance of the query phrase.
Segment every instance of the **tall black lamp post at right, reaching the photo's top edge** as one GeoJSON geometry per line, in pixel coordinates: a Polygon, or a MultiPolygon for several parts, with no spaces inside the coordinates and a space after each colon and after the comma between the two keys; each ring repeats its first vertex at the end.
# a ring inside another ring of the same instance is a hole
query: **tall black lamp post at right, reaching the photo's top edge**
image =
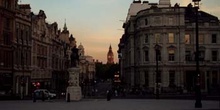
{"type": "Polygon", "coordinates": [[[200,88],[200,71],[199,71],[199,29],[198,29],[198,9],[201,0],[192,0],[196,10],[196,84],[195,84],[195,108],[202,108],[201,88],[200,88]]]}

